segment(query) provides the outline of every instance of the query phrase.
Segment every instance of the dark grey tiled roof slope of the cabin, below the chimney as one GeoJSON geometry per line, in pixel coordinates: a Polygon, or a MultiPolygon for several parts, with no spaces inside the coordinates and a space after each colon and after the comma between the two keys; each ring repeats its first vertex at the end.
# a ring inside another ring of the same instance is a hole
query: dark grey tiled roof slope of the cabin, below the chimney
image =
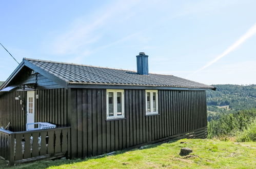
{"type": "Polygon", "coordinates": [[[95,85],[134,85],[214,89],[212,86],[173,75],[140,75],[135,71],[24,58],[33,65],[68,82],[95,85]]]}

